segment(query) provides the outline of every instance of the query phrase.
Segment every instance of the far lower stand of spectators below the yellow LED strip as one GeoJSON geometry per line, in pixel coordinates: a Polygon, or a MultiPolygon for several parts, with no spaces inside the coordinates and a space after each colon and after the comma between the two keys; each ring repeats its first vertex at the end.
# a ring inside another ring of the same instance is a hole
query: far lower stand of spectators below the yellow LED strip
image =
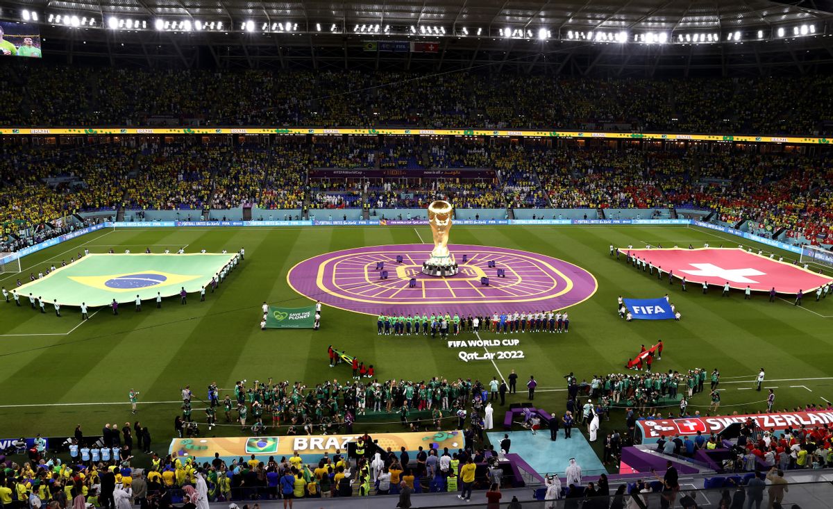
{"type": "Polygon", "coordinates": [[[271,145],[175,137],[57,147],[3,139],[0,223],[9,249],[29,242],[16,237],[44,235],[52,230],[40,225],[60,227],[55,221],[75,212],[142,219],[143,211],[167,210],[196,219],[209,209],[252,206],[285,211],[277,217],[309,211],[341,218],[342,210],[355,216],[424,208],[434,199],[506,213],[693,207],[723,222],[746,221],[751,231],[784,228],[787,238],[833,243],[833,156],[826,153],[542,147],[454,137],[276,137],[271,145]]]}

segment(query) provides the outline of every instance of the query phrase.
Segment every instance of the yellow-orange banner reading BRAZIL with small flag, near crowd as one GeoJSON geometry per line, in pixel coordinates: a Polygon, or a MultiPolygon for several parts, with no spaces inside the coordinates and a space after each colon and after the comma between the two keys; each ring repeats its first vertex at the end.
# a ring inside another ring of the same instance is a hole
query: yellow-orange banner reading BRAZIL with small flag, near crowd
{"type": "MultiPolygon", "coordinates": [[[[220,438],[174,438],[168,453],[174,457],[195,457],[197,461],[211,461],[214,453],[227,462],[239,457],[260,457],[262,461],[270,456],[291,457],[298,452],[305,462],[317,462],[325,452],[336,451],[347,454],[347,444],[355,442],[362,435],[305,435],[282,437],[220,437],[220,438]]],[[[376,433],[371,439],[379,447],[400,451],[402,447],[408,452],[417,452],[419,447],[451,450],[463,446],[462,432],[416,432],[416,433],[376,433]]]]}

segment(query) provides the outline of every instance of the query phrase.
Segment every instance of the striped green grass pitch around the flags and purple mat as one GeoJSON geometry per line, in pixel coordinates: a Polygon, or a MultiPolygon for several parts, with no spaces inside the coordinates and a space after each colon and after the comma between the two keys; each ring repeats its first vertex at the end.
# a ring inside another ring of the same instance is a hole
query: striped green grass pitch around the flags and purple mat
{"type": "MultiPolygon", "coordinates": [[[[427,237],[426,232],[419,233],[427,237]]],[[[458,350],[445,342],[421,336],[378,337],[375,317],[328,307],[322,312],[320,331],[260,330],[262,302],[280,307],[310,304],[287,286],[287,271],[297,262],[350,247],[413,242],[421,241],[410,227],[147,228],[95,232],[26,257],[22,268],[27,275],[84,248],[97,253],[111,247],[117,252],[146,247],[153,252],[173,251],[186,244],[192,252],[246,249],[245,261],[217,292],[208,293],[205,302],[189,299],[182,306],[172,297],[165,299],[161,309],[148,306],[132,312],[127,308],[119,316],[102,308],[87,322],[81,322],[75,309],[67,309],[58,318],[33,312],[28,302],[22,302],[22,307],[0,302],[0,437],[32,437],[36,432],[71,435],[77,424],[92,435],[100,434],[107,422],[123,426],[139,420],[152,433],[153,449],[167,450],[180,389],[185,385],[190,384],[195,398],[204,400],[211,382],[228,389],[244,378],[249,383],[273,377],[312,386],[333,378],[346,381],[350,376],[346,367],[328,367],[327,346],[331,344],[374,364],[382,380],[440,376],[487,381],[506,377],[512,369],[521,381],[535,375],[540,384],[536,406],[561,412],[566,373],[590,380],[594,374],[621,372],[641,344],[662,338],[666,348],[662,360],[655,362],[656,370],[721,370],[721,387],[726,389],[721,413],[764,409],[766,396],[750,390],[760,367],[766,367],[765,386],[778,387],[778,408],[824,403],[824,398],[833,401],[830,297],[821,302],[806,298],[800,308],[781,300],[770,303],[766,297],[744,301],[740,293],[731,298],[721,298],[720,292],[703,296],[691,287],[683,293],[678,284],[669,287],[665,280],[637,272],[608,254],[611,244],[692,243],[701,247],[705,242],[711,246],[743,243],[765,252],[771,249],[688,227],[454,227],[452,242],[540,252],[584,267],[596,277],[596,294],[569,309],[569,334],[518,337],[520,344],[511,350],[523,351],[523,359],[462,362],[458,350]],[[626,323],[616,314],[619,295],[661,297],[666,293],[680,310],[681,322],[626,323]],[[137,416],[131,415],[127,402],[131,388],[140,392],[137,416]]],[[[189,269],[177,271],[200,273],[189,269]]],[[[127,271],[107,271],[123,272],[127,271]]],[[[17,277],[0,275],[0,284],[11,289],[17,277]]],[[[488,332],[481,337],[498,338],[488,332]]],[[[221,391],[221,398],[225,393],[221,391]]],[[[525,396],[519,391],[509,402],[524,401],[525,396]]],[[[705,398],[694,397],[690,410],[706,413],[705,398]]],[[[195,406],[197,420],[203,417],[201,407],[195,406]]],[[[496,412],[496,422],[501,417],[496,412]]],[[[601,431],[616,425],[621,426],[621,421],[614,416],[610,423],[603,423],[601,431]]],[[[240,433],[238,427],[218,427],[211,434],[240,433]]]]}

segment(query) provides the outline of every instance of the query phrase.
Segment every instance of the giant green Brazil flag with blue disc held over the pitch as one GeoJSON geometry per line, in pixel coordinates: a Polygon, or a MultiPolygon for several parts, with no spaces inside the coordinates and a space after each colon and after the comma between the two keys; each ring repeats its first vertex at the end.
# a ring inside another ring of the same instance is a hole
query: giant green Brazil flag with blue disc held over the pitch
{"type": "MultiPolygon", "coordinates": [[[[28,295],[57,300],[63,306],[107,306],[199,292],[236,255],[217,253],[188,254],[97,254],[90,253],[76,262],[57,268],[47,276],[17,288],[28,302],[28,295]]],[[[25,258],[24,258],[25,260],[25,258]]]]}

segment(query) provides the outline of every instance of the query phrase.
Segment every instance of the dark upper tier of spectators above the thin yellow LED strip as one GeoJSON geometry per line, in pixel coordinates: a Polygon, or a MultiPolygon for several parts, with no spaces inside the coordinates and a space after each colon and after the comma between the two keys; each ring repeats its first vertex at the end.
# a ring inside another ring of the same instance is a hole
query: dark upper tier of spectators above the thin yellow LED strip
{"type": "Polygon", "coordinates": [[[0,125],[412,126],[824,134],[833,77],[591,79],[2,62],[0,125]],[[22,91],[22,92],[16,92],[22,91]]]}

